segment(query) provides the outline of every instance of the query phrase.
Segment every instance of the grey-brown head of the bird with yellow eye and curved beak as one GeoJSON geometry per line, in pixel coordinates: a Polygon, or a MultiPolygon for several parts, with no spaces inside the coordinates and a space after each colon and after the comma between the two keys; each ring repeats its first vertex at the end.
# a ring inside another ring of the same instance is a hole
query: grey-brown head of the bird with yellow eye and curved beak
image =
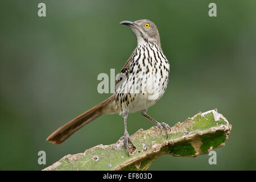
{"type": "Polygon", "coordinates": [[[158,28],[156,27],[155,23],[151,22],[150,20],[140,19],[135,22],[122,21],[120,24],[125,24],[129,26],[131,30],[133,30],[138,44],[152,42],[161,47],[158,28]]]}

